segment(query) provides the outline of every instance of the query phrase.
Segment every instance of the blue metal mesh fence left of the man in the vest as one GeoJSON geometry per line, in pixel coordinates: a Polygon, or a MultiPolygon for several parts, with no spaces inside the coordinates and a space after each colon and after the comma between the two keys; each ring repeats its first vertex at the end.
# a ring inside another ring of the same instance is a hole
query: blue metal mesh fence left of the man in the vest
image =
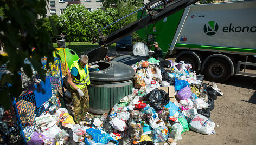
{"type": "MultiPolygon", "coordinates": [[[[46,68],[46,61],[43,61],[43,68],[46,68]]],[[[0,106],[0,144],[28,142],[36,128],[36,117],[54,113],[61,106],[66,106],[65,98],[61,98],[65,95],[59,58],[55,58],[53,64],[50,63],[43,87],[44,94],[36,90],[23,91],[17,99],[11,97],[12,106],[9,110],[0,106]]]]}

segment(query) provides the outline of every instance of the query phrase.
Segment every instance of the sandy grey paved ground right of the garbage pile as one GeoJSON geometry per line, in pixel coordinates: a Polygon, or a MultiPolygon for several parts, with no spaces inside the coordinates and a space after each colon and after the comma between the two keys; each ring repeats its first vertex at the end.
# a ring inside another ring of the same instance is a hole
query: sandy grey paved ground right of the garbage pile
{"type": "MultiPolygon", "coordinates": [[[[107,55],[112,60],[131,53],[112,49],[107,55]]],[[[255,70],[252,72],[256,73],[255,70]]],[[[216,84],[224,93],[215,100],[215,109],[211,111],[210,119],[215,122],[216,134],[188,131],[182,134],[182,140],[177,144],[256,144],[256,77],[234,75],[226,82],[216,84]]]]}

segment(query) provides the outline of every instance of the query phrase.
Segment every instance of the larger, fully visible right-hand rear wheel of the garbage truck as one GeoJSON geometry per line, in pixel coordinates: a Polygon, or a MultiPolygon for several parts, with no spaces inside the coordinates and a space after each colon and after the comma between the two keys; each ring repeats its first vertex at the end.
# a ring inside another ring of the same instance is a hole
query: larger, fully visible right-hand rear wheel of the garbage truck
{"type": "Polygon", "coordinates": [[[222,58],[213,58],[209,60],[204,68],[204,75],[209,81],[224,82],[230,76],[230,66],[222,58]]]}

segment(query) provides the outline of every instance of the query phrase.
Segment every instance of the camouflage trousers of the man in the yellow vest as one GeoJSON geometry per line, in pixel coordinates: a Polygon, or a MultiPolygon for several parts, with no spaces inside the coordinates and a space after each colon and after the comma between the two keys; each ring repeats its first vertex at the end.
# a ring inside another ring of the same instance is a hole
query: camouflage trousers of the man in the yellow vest
{"type": "Polygon", "coordinates": [[[80,97],[78,91],[71,89],[71,97],[74,107],[74,122],[79,123],[86,117],[87,109],[89,108],[89,94],[88,89],[85,87],[81,89],[84,96],[80,97]]]}

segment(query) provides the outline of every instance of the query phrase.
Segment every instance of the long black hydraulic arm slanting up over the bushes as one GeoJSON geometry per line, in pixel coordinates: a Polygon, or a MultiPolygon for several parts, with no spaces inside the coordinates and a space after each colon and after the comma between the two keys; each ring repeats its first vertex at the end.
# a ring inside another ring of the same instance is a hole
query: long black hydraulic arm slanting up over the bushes
{"type": "MultiPolygon", "coordinates": [[[[104,27],[103,29],[98,30],[99,32],[99,45],[104,45],[105,47],[107,47],[108,45],[111,45],[117,41],[119,41],[121,38],[124,38],[126,36],[129,36],[132,34],[132,32],[135,32],[139,29],[145,28],[150,24],[156,23],[157,21],[160,21],[161,19],[174,14],[175,12],[184,9],[185,7],[194,4],[195,2],[197,2],[198,0],[174,0],[171,2],[165,1],[165,0],[153,0],[150,1],[148,4],[144,5],[143,8],[139,9],[139,10],[144,10],[148,12],[148,15],[146,16],[142,16],[140,19],[137,19],[135,22],[132,22],[129,25],[126,25],[125,27],[112,32],[111,34],[104,36],[103,33],[101,32],[101,30],[107,28],[104,27]],[[159,3],[159,4],[157,4],[159,3]],[[155,6],[152,6],[154,4],[157,4],[155,6]],[[152,7],[151,7],[152,6],[152,7]],[[161,8],[158,9],[153,9],[156,8],[157,6],[161,6],[161,8]]],[[[138,11],[138,10],[137,10],[138,11]]],[[[137,12],[135,11],[135,12],[137,12]]],[[[134,14],[135,12],[133,12],[132,14],[134,14]]],[[[131,15],[131,14],[129,14],[131,15]]],[[[127,15],[127,16],[129,16],[127,15]]],[[[119,19],[120,20],[120,19],[119,19]]],[[[118,20],[118,21],[119,21],[118,20]]],[[[117,22],[117,21],[116,21],[117,22]]],[[[114,22],[114,23],[116,23],[114,22]]],[[[112,24],[114,24],[112,23],[112,24]]],[[[95,41],[95,40],[93,40],[95,41]]]]}

